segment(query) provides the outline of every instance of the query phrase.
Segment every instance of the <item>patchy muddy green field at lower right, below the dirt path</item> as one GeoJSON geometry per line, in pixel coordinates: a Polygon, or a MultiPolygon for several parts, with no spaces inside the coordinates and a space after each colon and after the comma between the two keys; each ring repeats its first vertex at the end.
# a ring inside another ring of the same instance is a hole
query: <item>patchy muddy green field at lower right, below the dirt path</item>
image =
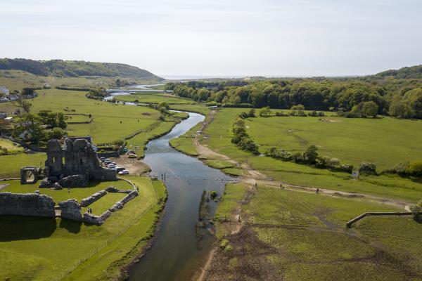
{"type": "MultiPolygon", "coordinates": [[[[245,188],[228,185],[225,193],[217,219],[233,215],[245,188]]],[[[226,236],[206,280],[242,280],[251,274],[262,280],[422,277],[420,223],[370,217],[345,228],[345,221],[365,211],[395,211],[395,207],[258,185],[242,210],[248,219],[240,233],[227,235],[224,225],[230,223],[217,224],[217,234],[226,236]]]]}

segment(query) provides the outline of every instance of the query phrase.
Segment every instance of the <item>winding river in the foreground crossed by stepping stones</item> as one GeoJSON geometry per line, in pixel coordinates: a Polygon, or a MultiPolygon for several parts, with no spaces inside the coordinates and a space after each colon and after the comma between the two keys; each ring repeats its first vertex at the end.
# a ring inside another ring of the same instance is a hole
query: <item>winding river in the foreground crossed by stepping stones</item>
{"type": "MultiPolygon", "coordinates": [[[[200,199],[203,190],[215,190],[222,195],[224,184],[234,178],[170,147],[172,138],[205,118],[197,113],[188,114],[189,118],[174,126],[170,133],[146,145],[143,161],[151,167],[151,175],[161,179],[165,174],[168,200],[153,247],[140,263],[129,268],[129,280],[191,280],[200,273],[214,242],[207,230],[203,237],[196,235],[200,199]]],[[[212,216],[216,206],[213,202],[210,205],[212,216]]]]}

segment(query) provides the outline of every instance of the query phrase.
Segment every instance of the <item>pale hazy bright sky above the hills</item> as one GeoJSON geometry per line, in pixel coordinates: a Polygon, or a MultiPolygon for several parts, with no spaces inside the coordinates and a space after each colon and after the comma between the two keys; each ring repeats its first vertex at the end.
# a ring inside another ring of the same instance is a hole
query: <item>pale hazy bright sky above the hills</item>
{"type": "Polygon", "coordinates": [[[421,50],[421,0],[0,0],[0,58],[343,76],[420,65],[421,50]]]}

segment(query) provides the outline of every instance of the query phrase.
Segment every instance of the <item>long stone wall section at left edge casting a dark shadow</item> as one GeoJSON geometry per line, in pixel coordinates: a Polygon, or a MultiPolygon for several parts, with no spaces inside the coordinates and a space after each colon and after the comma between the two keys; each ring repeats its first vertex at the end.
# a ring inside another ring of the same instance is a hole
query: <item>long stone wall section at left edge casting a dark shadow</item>
{"type": "Polygon", "coordinates": [[[0,215],[56,217],[53,198],[35,193],[0,193],[0,215]]]}

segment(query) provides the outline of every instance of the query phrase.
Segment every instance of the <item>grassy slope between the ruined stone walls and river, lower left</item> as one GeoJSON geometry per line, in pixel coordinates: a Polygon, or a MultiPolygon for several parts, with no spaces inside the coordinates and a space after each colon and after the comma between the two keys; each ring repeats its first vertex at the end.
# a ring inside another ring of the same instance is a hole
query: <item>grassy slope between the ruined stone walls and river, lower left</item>
{"type": "MultiPolygon", "coordinates": [[[[162,184],[149,178],[128,178],[139,186],[140,195],[110,216],[103,226],[60,219],[1,217],[0,254],[4,260],[0,280],[119,277],[120,266],[138,254],[151,236],[158,218],[155,213],[162,208],[166,194],[162,184]]],[[[71,194],[76,192],[72,190],[71,194]]]]}

